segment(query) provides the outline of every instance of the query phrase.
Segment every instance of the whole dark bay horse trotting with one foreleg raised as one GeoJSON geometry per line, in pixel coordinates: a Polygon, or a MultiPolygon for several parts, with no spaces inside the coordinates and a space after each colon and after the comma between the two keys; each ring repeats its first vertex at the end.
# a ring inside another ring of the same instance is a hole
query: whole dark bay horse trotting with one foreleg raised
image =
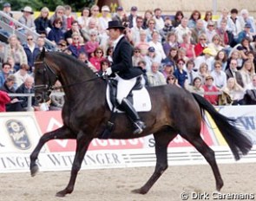
{"type": "MultiPolygon", "coordinates": [[[[106,81],[97,77],[85,64],[75,58],[59,52],[43,52],[35,62],[36,99],[49,100],[50,88],[56,80],[61,81],[65,104],[62,108],[63,126],[45,133],[35,150],[30,155],[30,172],[36,175],[36,159],[50,139],[76,139],[75,159],[72,165],[69,184],[56,196],[64,197],[74,190],[75,178],[87,152],[89,143],[100,138],[110,110],[105,97],[106,81]]],[[[207,160],[213,169],[216,189],[220,191],[223,180],[216,163],[213,150],[200,137],[203,112],[207,111],[219,127],[220,132],[231,148],[234,158],[246,154],[252,148],[252,142],[237,128],[236,121],[218,113],[214,107],[198,94],[191,94],[184,89],[166,85],[148,88],[152,101],[152,110],[140,113],[147,128],[143,133],[134,135],[133,125],[124,113],[116,114],[115,128],[111,139],[131,139],[153,133],[155,139],[156,165],[153,175],[135,193],[145,194],[167,169],[167,146],[179,133],[187,139],[207,160]]]]}

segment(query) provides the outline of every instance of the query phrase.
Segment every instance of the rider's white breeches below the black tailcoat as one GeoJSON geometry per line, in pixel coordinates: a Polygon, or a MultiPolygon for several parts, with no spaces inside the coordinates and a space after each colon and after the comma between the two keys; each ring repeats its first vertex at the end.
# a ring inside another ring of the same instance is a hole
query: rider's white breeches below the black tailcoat
{"type": "Polygon", "coordinates": [[[136,79],[132,78],[130,80],[123,80],[120,76],[116,75],[115,80],[118,81],[117,83],[117,92],[116,92],[116,100],[118,101],[119,104],[121,104],[121,100],[126,98],[132,88],[134,88],[136,79]]]}

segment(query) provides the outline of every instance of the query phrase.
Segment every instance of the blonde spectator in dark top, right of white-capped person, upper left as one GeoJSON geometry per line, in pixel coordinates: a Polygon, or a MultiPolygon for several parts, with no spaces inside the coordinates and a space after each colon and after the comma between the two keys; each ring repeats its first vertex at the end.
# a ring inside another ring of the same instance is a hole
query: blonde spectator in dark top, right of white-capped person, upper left
{"type": "Polygon", "coordinates": [[[38,16],[35,20],[36,32],[38,34],[48,34],[50,30],[50,22],[49,22],[49,9],[47,7],[43,7],[40,12],[40,16],[38,16]]]}

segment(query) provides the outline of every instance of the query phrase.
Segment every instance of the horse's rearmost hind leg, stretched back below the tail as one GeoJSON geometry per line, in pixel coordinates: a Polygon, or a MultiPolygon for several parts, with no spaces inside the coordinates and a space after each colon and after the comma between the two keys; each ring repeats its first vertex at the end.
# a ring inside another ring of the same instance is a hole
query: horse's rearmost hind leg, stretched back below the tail
{"type": "Polygon", "coordinates": [[[197,135],[189,133],[188,137],[183,136],[182,134],[181,136],[187,139],[187,141],[189,141],[197,149],[197,151],[200,152],[203,155],[203,157],[207,160],[208,164],[211,166],[213,170],[213,175],[216,181],[216,189],[217,191],[220,191],[220,189],[223,186],[223,180],[220,176],[220,171],[213,150],[209,146],[207,146],[207,143],[203,139],[201,139],[199,133],[197,135]],[[191,138],[192,136],[194,136],[194,138],[191,138]]]}

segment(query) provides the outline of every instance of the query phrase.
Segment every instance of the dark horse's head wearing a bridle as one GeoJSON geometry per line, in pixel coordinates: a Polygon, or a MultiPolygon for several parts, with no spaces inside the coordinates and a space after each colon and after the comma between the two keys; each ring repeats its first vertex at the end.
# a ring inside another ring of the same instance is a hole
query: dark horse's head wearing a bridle
{"type": "Polygon", "coordinates": [[[51,93],[58,76],[53,68],[53,63],[47,59],[45,49],[37,56],[35,65],[35,98],[42,103],[49,100],[51,93]]]}

